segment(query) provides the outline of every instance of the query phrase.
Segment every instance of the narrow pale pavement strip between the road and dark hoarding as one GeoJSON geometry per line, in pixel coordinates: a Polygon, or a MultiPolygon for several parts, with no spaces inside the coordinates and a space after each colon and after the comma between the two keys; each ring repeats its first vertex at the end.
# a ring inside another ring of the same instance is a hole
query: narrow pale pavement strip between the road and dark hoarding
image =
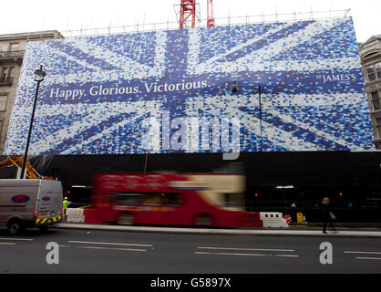
{"type": "Polygon", "coordinates": [[[195,234],[195,235],[284,235],[284,236],[319,236],[319,237],[368,237],[381,238],[381,230],[376,228],[336,228],[335,232],[327,229],[328,234],[322,233],[322,228],[318,227],[298,227],[288,228],[183,228],[183,227],[153,227],[153,226],[130,226],[130,225],[108,225],[108,224],[75,224],[61,223],[52,226],[57,229],[82,229],[98,231],[119,231],[119,232],[149,232],[149,233],[174,233],[174,234],[195,234]]]}

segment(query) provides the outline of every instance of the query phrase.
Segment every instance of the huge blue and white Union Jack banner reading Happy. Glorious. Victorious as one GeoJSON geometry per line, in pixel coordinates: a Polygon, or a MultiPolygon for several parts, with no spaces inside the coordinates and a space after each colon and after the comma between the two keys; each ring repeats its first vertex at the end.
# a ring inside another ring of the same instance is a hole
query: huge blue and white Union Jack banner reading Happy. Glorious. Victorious
{"type": "Polygon", "coordinates": [[[5,154],[40,65],[29,154],[374,149],[351,18],[29,42],[5,154]]]}

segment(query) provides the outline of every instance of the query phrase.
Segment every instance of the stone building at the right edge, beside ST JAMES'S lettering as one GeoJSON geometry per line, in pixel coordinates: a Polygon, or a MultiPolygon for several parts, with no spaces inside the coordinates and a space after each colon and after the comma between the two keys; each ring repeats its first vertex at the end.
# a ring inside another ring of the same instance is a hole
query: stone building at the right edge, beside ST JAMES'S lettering
{"type": "Polygon", "coordinates": [[[376,149],[381,150],[381,35],[359,44],[366,81],[366,97],[375,133],[376,149]]]}

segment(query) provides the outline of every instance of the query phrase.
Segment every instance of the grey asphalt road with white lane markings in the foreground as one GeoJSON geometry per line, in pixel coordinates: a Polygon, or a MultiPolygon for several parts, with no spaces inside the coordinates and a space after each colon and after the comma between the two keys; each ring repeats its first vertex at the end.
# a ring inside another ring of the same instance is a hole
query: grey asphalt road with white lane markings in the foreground
{"type": "Polygon", "coordinates": [[[381,273],[381,238],[185,235],[52,229],[0,231],[0,273],[257,274],[381,273]],[[333,264],[322,265],[322,242],[333,264]],[[59,246],[48,265],[46,244],[59,246]]]}

